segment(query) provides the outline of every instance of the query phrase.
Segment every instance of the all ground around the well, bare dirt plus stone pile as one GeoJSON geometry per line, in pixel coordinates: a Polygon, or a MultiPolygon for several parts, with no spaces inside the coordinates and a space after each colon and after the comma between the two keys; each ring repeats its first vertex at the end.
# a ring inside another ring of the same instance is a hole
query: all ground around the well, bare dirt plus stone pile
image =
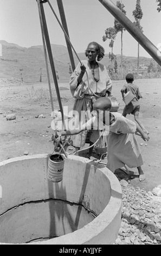
{"type": "MultiPolygon", "coordinates": [[[[129,169],[129,174],[117,172],[123,191],[123,211],[116,245],[161,244],[161,197],[154,196],[153,188],[161,185],[161,89],[160,79],[138,80],[143,99],[140,101],[139,118],[150,131],[150,140],[144,142],[137,136],[144,160],[146,180],[140,182],[136,168],[129,169]]],[[[113,96],[120,102],[119,112],[123,112],[124,102],[120,89],[124,81],[113,81],[113,96]]],[[[73,108],[74,99],[69,84],[61,84],[62,105],[73,108]],[[65,90],[66,88],[66,90],[65,90]]],[[[51,106],[48,99],[38,99],[38,93],[44,97],[48,84],[22,84],[13,79],[0,80],[0,160],[12,157],[53,152],[51,141],[51,106]],[[37,96],[37,97],[36,97],[37,96]],[[7,120],[8,114],[15,114],[15,119],[7,120]]],[[[54,98],[54,108],[59,104],[54,98]]],[[[127,118],[134,120],[132,115],[127,118]]],[[[88,147],[86,145],[86,147],[88,147]]],[[[69,153],[74,148],[69,147],[69,153]]],[[[96,149],[93,156],[100,159],[101,151],[96,149]]],[[[87,150],[81,151],[87,156],[87,150]]],[[[102,161],[106,162],[107,159],[102,161]]]]}

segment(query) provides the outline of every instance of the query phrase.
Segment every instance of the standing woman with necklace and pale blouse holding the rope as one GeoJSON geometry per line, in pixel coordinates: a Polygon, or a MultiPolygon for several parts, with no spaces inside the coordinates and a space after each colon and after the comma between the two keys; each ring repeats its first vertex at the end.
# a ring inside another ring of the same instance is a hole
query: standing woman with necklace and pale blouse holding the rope
{"type": "MultiPolygon", "coordinates": [[[[85,55],[88,60],[82,60],[82,65],[79,63],[76,66],[69,81],[70,92],[75,98],[73,106],[73,111],[76,111],[75,128],[79,128],[80,125],[85,124],[91,118],[93,103],[97,96],[108,97],[111,96],[112,91],[112,81],[108,76],[106,67],[98,63],[105,55],[104,48],[97,42],[90,42],[85,55]]],[[[72,136],[75,151],[85,145],[86,136],[87,131],[72,136]]],[[[104,148],[105,141],[100,141],[99,147],[104,148]]],[[[89,157],[92,154],[92,149],[89,150],[89,157]]]]}

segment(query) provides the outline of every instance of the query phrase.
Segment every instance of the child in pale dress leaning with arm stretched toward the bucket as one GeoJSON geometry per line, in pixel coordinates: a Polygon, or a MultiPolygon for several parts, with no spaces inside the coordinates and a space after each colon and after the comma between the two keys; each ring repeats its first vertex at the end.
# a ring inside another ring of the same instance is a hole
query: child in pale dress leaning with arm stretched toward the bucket
{"type": "MultiPolygon", "coordinates": [[[[99,129],[104,130],[107,136],[107,168],[114,173],[116,169],[125,165],[130,168],[137,167],[139,181],[143,181],[145,180],[145,174],[141,168],[143,159],[135,132],[138,131],[144,141],[149,141],[149,136],[139,125],[126,119],[122,114],[110,112],[110,108],[110,99],[99,98],[93,104],[94,117],[89,119],[80,130],[61,131],[59,134],[60,136],[74,135],[82,130],[91,129],[91,126],[94,129],[99,124],[99,129]]],[[[60,136],[56,139],[56,143],[60,142],[60,136]]]]}

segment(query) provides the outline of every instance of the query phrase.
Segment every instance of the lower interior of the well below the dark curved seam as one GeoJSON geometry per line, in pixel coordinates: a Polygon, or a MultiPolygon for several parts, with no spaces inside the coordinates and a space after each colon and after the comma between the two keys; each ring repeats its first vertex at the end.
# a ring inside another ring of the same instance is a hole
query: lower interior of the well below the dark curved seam
{"type": "Polygon", "coordinates": [[[92,212],[82,205],[63,200],[25,203],[1,215],[1,242],[29,243],[48,240],[72,233],[94,218],[92,212]]]}

